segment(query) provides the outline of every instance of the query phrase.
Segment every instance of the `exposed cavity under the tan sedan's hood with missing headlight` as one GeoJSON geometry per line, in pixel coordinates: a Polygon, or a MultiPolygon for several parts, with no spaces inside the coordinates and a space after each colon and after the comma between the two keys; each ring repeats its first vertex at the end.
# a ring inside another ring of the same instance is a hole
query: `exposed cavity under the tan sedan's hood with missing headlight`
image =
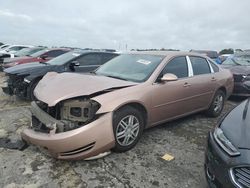
{"type": "Polygon", "coordinates": [[[66,132],[86,125],[96,118],[100,104],[87,98],[68,99],[54,107],[32,102],[32,127],[39,132],[66,132]]]}

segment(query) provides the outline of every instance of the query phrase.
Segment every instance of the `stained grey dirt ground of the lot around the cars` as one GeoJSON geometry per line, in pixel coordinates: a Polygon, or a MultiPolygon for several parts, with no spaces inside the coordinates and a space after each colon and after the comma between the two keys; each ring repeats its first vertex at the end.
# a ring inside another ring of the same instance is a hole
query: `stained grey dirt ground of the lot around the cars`
{"type": "MultiPolygon", "coordinates": [[[[223,114],[238,102],[228,101],[223,114]]],[[[206,187],[206,136],[217,120],[196,114],[146,130],[129,152],[59,161],[34,146],[18,150],[20,132],[30,124],[29,103],[0,89],[0,187],[206,187]],[[165,153],[175,159],[161,159],[165,153]]]]}

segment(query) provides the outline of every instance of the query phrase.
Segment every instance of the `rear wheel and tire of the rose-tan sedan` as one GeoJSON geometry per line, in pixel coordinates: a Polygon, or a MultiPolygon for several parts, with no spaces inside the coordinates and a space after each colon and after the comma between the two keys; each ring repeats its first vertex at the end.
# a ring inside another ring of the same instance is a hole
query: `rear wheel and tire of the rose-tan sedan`
{"type": "Polygon", "coordinates": [[[225,93],[222,90],[218,90],[215,93],[210,107],[206,111],[206,114],[209,117],[218,117],[224,108],[225,98],[225,93]]]}

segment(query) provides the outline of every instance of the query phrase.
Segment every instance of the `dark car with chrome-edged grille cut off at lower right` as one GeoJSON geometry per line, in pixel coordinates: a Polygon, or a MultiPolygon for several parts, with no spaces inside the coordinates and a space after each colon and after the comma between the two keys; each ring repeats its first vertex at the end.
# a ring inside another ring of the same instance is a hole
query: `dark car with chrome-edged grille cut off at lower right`
{"type": "Polygon", "coordinates": [[[209,133],[205,173],[211,187],[250,187],[250,99],[209,133]]]}

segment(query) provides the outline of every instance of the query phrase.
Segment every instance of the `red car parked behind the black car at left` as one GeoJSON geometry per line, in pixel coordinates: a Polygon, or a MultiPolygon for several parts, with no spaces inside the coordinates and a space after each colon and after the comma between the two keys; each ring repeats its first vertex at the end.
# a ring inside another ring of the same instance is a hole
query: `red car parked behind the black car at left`
{"type": "Polygon", "coordinates": [[[13,59],[10,62],[3,63],[2,67],[4,69],[13,67],[16,65],[20,64],[25,64],[25,63],[34,63],[34,62],[47,62],[57,56],[60,56],[71,49],[68,48],[50,48],[50,49],[44,49],[40,50],[36,53],[31,54],[29,57],[23,57],[23,58],[18,58],[18,59],[13,59]]]}

